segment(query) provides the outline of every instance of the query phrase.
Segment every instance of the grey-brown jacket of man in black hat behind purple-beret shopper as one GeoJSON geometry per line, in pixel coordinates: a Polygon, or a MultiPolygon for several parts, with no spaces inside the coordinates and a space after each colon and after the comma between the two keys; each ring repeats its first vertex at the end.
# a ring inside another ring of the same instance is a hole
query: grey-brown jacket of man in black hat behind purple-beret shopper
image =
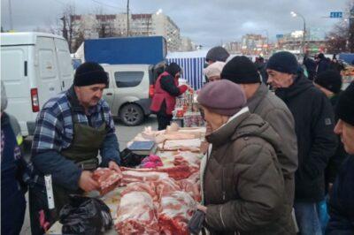
{"type": "Polygon", "coordinates": [[[293,206],[295,193],[295,172],[297,170],[297,140],[294,117],[287,105],[274,95],[265,84],[247,101],[251,113],[258,114],[281,137],[278,161],[284,176],[289,211],[293,206]]]}

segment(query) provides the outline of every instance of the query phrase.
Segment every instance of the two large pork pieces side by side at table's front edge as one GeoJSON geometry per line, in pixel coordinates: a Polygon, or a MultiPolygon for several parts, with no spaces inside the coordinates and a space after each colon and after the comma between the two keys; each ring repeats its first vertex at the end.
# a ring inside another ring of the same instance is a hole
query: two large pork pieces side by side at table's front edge
{"type": "Polygon", "coordinates": [[[119,234],[189,234],[196,201],[172,178],[129,184],[121,195],[119,234]]]}

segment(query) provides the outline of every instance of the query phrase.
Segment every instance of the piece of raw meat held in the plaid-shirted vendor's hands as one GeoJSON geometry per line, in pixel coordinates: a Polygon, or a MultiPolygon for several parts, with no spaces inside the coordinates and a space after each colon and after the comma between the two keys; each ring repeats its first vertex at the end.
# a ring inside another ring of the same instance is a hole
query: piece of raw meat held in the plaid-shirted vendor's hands
{"type": "Polygon", "coordinates": [[[109,168],[97,168],[92,178],[98,182],[100,194],[104,195],[119,185],[119,181],[123,178],[123,175],[109,168]]]}

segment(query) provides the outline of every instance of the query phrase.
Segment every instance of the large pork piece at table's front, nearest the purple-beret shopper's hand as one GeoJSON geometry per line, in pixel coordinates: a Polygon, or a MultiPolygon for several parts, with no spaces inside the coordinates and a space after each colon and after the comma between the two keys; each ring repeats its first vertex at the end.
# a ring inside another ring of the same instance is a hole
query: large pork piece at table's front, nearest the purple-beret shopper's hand
{"type": "Polygon", "coordinates": [[[158,224],[161,234],[187,235],[188,222],[196,210],[196,201],[189,193],[175,191],[160,200],[158,224]]]}

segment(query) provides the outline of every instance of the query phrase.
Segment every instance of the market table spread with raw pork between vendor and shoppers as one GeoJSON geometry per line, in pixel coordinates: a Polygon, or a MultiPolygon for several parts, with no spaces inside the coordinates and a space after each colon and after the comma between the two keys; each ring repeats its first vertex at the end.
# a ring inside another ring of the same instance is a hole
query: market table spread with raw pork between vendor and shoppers
{"type": "MultiPolygon", "coordinates": [[[[129,148],[136,142],[155,142],[157,148],[151,148],[140,166],[122,167],[121,178],[111,175],[108,180],[102,176],[109,170],[95,171],[101,194],[89,196],[104,201],[114,224],[104,234],[189,234],[187,223],[201,200],[199,163],[204,133],[204,127],[179,128],[175,124],[164,131],[145,128],[127,144],[129,148]],[[157,158],[163,166],[149,168],[148,161],[157,163],[157,158]],[[107,185],[110,180],[112,184],[107,185]]],[[[62,234],[62,224],[53,224],[47,234],[62,234]]]]}

